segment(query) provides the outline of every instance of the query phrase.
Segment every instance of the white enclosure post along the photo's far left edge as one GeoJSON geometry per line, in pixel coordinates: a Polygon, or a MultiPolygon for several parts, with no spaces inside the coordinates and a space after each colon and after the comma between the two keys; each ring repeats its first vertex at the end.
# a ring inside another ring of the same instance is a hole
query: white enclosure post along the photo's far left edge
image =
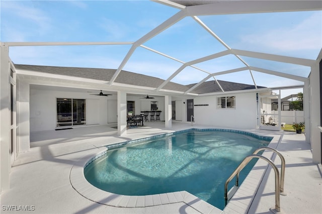
{"type": "Polygon", "coordinates": [[[11,168],[9,69],[9,47],[0,44],[0,192],[9,189],[11,168]]]}

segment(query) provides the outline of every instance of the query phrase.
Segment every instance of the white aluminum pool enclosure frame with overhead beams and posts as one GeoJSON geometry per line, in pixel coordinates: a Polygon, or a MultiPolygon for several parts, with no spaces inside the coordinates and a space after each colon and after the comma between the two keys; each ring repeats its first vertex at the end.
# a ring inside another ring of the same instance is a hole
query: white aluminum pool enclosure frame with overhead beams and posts
{"type": "MultiPolygon", "coordinates": [[[[191,60],[189,62],[184,62],[180,59],[175,59],[172,56],[168,56],[166,54],[160,53],[159,54],[168,57],[170,59],[176,60],[182,63],[182,66],[173,71],[172,75],[169,76],[162,84],[156,85],[154,88],[136,88],[137,91],[144,91],[149,92],[149,94],[160,94],[165,96],[165,102],[167,105],[168,110],[166,111],[166,127],[171,127],[171,96],[198,96],[198,94],[191,93],[192,89],[188,89],[185,92],[176,92],[176,91],[169,91],[164,89],[164,86],[171,81],[177,74],[179,74],[185,67],[187,66],[195,66],[195,64],[204,62],[207,60],[219,58],[222,56],[233,55],[241,60],[245,66],[240,68],[235,68],[233,70],[223,70],[223,71],[205,71],[202,69],[197,69],[200,72],[206,72],[208,74],[207,78],[204,78],[198,84],[208,80],[209,78],[213,78],[217,83],[216,76],[225,73],[233,73],[242,70],[249,70],[250,73],[252,71],[258,71],[266,74],[277,75],[280,77],[291,78],[295,80],[299,80],[304,82],[304,97],[308,97],[309,103],[304,103],[305,108],[305,124],[306,124],[306,141],[307,143],[311,144],[312,147],[312,154],[313,154],[313,162],[320,163],[321,162],[321,131],[318,127],[321,125],[320,121],[320,82],[319,82],[319,62],[322,59],[322,52],[316,57],[315,60],[310,59],[303,59],[303,58],[296,58],[296,57],[289,57],[289,56],[281,56],[275,54],[268,54],[268,53],[259,53],[247,50],[237,50],[231,49],[221,38],[219,38],[214,32],[210,30],[198,16],[207,16],[207,15],[224,15],[224,14],[250,14],[250,13],[270,13],[270,12],[295,12],[295,11],[321,11],[322,4],[321,1],[214,1],[213,4],[207,5],[195,5],[195,6],[183,6],[176,4],[171,1],[155,1],[160,4],[167,5],[169,7],[174,7],[179,9],[180,11],[175,14],[174,16],[170,17],[168,20],[142,36],[136,41],[124,41],[124,42],[1,42],[0,43],[0,118],[1,118],[1,129],[0,129],[0,138],[1,138],[1,146],[0,146],[0,157],[1,157],[1,173],[0,173],[0,189],[6,190],[9,188],[9,174],[11,169],[11,154],[10,151],[10,129],[15,128],[10,125],[10,115],[9,115],[9,104],[10,100],[10,81],[9,81],[9,72],[11,67],[11,60],[9,58],[9,49],[10,47],[14,46],[70,46],[70,45],[132,45],[130,50],[127,52],[126,56],[123,58],[122,62],[119,64],[117,71],[111,78],[109,82],[105,82],[104,86],[106,88],[110,88],[112,90],[118,91],[118,110],[121,107],[124,107],[126,102],[126,93],[120,90],[117,90],[123,85],[115,82],[116,78],[118,77],[119,73],[121,72],[122,68],[126,65],[128,60],[131,58],[132,54],[136,50],[137,47],[143,47],[147,50],[158,52],[158,50],[153,50],[147,46],[144,46],[144,43],[149,39],[155,37],[159,33],[165,31],[166,29],[170,28],[171,26],[178,23],[180,20],[186,17],[193,17],[194,21],[198,25],[200,25],[205,31],[207,31],[212,37],[216,38],[226,50],[222,52],[214,52],[211,55],[204,56],[198,59],[191,60]],[[308,77],[301,77],[292,74],[286,74],[277,70],[270,70],[267,68],[259,68],[249,65],[246,61],[244,61],[241,56],[246,57],[253,57],[265,60],[271,60],[275,62],[284,62],[296,65],[303,65],[310,68],[310,74],[308,77]],[[169,114],[170,112],[170,114],[169,114]]],[[[202,1],[201,1],[202,2],[202,1]]],[[[196,2],[197,3],[197,2],[196,2]]],[[[19,72],[17,70],[17,72],[19,72]]],[[[256,79],[254,79],[254,85],[256,86],[256,79]]],[[[98,81],[97,81],[98,82],[98,81]]],[[[94,83],[93,83],[94,84],[94,83]]],[[[102,84],[103,85],[103,84],[102,84]]],[[[124,86],[125,87],[125,86],[124,86]]],[[[29,89],[29,88],[26,88],[29,89]]],[[[28,96],[28,92],[26,94],[22,94],[23,91],[18,89],[17,92],[17,101],[18,105],[26,104],[26,103],[19,103],[23,98],[29,99],[29,97],[21,97],[21,95],[28,96]],[[21,93],[20,93],[21,92],[21,93]]],[[[226,93],[221,87],[222,93],[226,93]]],[[[28,100],[29,101],[29,100],[28,100]]],[[[19,106],[20,108],[21,106],[19,106]]],[[[28,107],[27,107],[28,109],[28,107]]],[[[28,113],[29,114],[29,113],[28,113]]],[[[28,114],[25,115],[28,118],[28,114]]],[[[118,115],[118,134],[123,135],[126,134],[126,124],[123,121],[124,118],[121,118],[123,112],[119,110],[118,115]]],[[[122,116],[123,117],[123,116],[122,116]]],[[[125,116],[124,116],[125,117],[125,116]]],[[[281,117],[279,116],[279,119],[281,117]]],[[[17,121],[17,120],[16,120],[17,121]]],[[[280,122],[279,122],[280,124],[280,122]]],[[[21,126],[22,123],[18,123],[16,126],[21,126]]],[[[28,130],[28,125],[26,125],[28,130]]],[[[24,133],[16,133],[16,135],[23,135],[24,133]]],[[[16,143],[17,144],[17,143],[16,143]]]]}

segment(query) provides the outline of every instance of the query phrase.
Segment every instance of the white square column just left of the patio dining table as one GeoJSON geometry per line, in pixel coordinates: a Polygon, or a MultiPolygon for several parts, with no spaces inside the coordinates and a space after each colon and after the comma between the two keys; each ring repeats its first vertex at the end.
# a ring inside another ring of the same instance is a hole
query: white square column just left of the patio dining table
{"type": "Polygon", "coordinates": [[[126,134],[126,92],[117,92],[117,134],[126,134]]]}

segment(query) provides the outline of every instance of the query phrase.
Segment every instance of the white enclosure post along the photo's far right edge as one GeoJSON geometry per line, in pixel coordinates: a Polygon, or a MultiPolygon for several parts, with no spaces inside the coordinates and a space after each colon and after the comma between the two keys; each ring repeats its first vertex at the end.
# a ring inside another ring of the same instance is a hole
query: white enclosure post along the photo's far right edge
{"type": "Polygon", "coordinates": [[[313,163],[321,163],[321,138],[320,138],[320,83],[319,83],[319,66],[318,62],[311,66],[310,73],[310,94],[311,94],[311,103],[310,103],[310,143],[312,150],[312,159],[313,163]]]}

